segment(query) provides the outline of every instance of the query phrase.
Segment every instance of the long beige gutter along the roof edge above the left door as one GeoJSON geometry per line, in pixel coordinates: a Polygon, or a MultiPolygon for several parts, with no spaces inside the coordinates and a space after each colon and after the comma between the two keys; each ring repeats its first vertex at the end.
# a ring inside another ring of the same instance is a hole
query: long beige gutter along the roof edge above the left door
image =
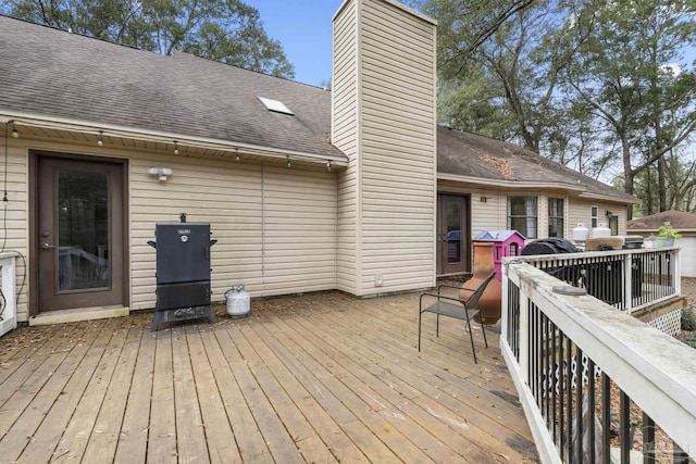
{"type": "Polygon", "coordinates": [[[5,124],[9,121],[14,121],[15,124],[20,127],[25,125],[33,127],[51,128],[57,130],[77,131],[90,135],[97,135],[99,130],[103,130],[104,135],[107,136],[128,138],[133,140],[159,141],[163,143],[173,143],[174,140],[176,140],[179,146],[191,148],[203,148],[229,152],[235,152],[235,149],[243,149],[245,151],[256,152],[259,155],[265,156],[285,158],[289,155],[302,158],[309,161],[331,161],[332,163],[336,163],[336,165],[338,166],[348,165],[348,156],[346,155],[336,156],[296,150],[283,150],[273,147],[263,147],[251,143],[238,143],[231,140],[214,139],[209,137],[196,137],[177,133],[149,130],[115,124],[100,124],[71,117],[51,116],[42,113],[27,113],[15,111],[9,112],[7,110],[0,110],[0,124],[5,124]]]}

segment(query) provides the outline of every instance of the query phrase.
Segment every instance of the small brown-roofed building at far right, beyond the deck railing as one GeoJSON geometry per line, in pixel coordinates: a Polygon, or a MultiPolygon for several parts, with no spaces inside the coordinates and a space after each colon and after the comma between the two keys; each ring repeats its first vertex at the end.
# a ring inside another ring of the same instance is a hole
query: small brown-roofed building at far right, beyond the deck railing
{"type": "Polygon", "coordinates": [[[669,210],[649,216],[629,221],[629,234],[644,237],[658,236],[658,228],[666,222],[682,234],[682,238],[675,240],[674,246],[680,247],[680,267],[682,277],[696,277],[696,214],[683,211],[669,210]]]}

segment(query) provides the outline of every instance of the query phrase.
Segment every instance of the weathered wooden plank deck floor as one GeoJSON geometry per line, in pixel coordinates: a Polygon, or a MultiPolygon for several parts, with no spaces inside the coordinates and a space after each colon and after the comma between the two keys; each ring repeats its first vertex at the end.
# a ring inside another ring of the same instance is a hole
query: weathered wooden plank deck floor
{"type": "MultiPolygon", "coordinates": [[[[217,313],[223,315],[224,308],[217,313]]],[[[244,319],[149,333],[152,313],[0,339],[0,461],[530,462],[497,348],[418,296],[252,301],[244,319]]],[[[494,327],[494,330],[496,327],[494,327]]]]}

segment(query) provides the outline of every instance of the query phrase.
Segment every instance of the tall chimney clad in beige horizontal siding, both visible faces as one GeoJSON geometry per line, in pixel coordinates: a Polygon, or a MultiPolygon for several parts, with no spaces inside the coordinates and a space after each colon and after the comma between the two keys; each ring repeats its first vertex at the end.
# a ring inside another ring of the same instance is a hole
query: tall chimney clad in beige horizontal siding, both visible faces
{"type": "Polygon", "coordinates": [[[334,18],[332,141],[337,286],[358,296],[435,284],[435,24],[390,0],[348,0],[334,18]]]}

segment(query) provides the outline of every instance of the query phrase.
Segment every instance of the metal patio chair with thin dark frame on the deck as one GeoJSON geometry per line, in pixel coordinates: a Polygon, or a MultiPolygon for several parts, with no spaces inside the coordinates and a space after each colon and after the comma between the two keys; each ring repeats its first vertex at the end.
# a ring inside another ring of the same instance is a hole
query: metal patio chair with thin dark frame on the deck
{"type": "MultiPolygon", "coordinates": [[[[469,329],[469,338],[471,340],[471,351],[474,354],[474,363],[478,363],[476,361],[476,349],[474,347],[474,337],[471,333],[471,319],[481,313],[478,309],[478,300],[481,300],[481,296],[484,290],[488,286],[488,283],[495,277],[496,273],[493,272],[488,275],[476,288],[469,287],[457,287],[452,285],[443,284],[437,287],[437,293],[421,293],[421,299],[419,303],[419,313],[418,313],[418,351],[421,351],[421,321],[423,313],[433,313],[436,315],[436,325],[435,325],[435,336],[439,337],[439,316],[453,317],[461,321],[467,321],[467,328],[469,329]],[[467,299],[455,298],[455,297],[446,297],[442,294],[443,288],[456,288],[458,290],[469,290],[472,293],[467,299]],[[423,308],[423,298],[435,298],[433,304],[423,308]]],[[[486,329],[483,326],[483,318],[481,318],[481,331],[483,333],[483,340],[486,343],[486,348],[488,348],[488,340],[486,340],[486,329]]]]}

